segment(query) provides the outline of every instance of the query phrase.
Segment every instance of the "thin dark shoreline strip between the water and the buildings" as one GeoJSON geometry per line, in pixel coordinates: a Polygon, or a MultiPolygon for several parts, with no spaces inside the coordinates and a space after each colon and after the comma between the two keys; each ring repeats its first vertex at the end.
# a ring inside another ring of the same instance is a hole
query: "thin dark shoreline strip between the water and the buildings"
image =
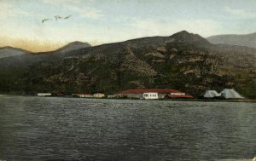
{"type": "MultiPolygon", "coordinates": [[[[10,96],[35,96],[35,97],[61,97],[61,98],[79,98],[79,99],[104,99],[104,100],[140,100],[131,98],[81,98],[73,97],[72,95],[65,96],[38,96],[38,95],[25,95],[25,94],[0,94],[0,96],[10,95],[10,96]]],[[[217,100],[217,99],[157,99],[157,100],[145,100],[145,101],[205,101],[205,102],[250,102],[256,103],[256,99],[227,99],[227,100],[217,100]]]]}

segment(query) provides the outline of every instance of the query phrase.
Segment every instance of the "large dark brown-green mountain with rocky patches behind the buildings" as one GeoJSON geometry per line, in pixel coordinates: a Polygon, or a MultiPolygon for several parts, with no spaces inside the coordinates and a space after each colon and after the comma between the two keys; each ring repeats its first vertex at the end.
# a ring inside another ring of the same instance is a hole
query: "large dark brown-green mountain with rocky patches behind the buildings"
{"type": "Polygon", "coordinates": [[[183,31],[74,49],[65,55],[17,55],[0,60],[0,92],[113,94],[172,88],[197,97],[207,89],[233,88],[256,98],[255,54],[256,49],[212,44],[183,31]]]}

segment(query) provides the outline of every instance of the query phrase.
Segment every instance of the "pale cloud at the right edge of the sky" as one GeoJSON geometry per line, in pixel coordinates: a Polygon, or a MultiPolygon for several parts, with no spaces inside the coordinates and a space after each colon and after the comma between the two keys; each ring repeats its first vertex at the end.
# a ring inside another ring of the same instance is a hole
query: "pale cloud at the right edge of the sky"
{"type": "Polygon", "coordinates": [[[226,7],[224,11],[228,14],[236,16],[236,18],[242,18],[242,19],[255,19],[256,13],[249,12],[244,9],[231,9],[230,7],[226,7]]]}

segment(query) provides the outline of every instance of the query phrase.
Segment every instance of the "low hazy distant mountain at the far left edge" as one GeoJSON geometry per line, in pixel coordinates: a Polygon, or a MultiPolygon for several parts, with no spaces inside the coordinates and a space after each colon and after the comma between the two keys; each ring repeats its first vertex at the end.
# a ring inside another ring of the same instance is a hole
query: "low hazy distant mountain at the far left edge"
{"type": "Polygon", "coordinates": [[[16,49],[13,47],[0,48],[0,58],[5,58],[9,56],[14,56],[14,55],[24,55],[26,53],[28,53],[28,51],[23,49],[16,49]]]}

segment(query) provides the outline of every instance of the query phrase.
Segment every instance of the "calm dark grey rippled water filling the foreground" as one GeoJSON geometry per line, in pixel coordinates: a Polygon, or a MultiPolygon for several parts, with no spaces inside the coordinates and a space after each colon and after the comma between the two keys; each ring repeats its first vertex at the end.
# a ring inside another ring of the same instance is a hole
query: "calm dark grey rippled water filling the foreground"
{"type": "Polygon", "coordinates": [[[0,96],[0,160],[218,160],[255,154],[255,103],[0,96]]]}

